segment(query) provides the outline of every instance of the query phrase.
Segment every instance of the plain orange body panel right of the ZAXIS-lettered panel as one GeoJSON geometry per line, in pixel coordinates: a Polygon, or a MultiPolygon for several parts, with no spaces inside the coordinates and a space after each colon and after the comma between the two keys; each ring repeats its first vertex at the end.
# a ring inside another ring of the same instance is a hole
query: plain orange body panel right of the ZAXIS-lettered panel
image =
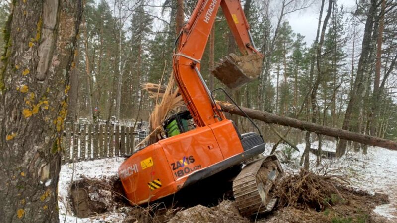
{"type": "Polygon", "coordinates": [[[244,152],[232,121],[225,119],[216,124],[212,124],[209,127],[212,129],[215,138],[218,141],[218,145],[224,159],[244,152]]]}

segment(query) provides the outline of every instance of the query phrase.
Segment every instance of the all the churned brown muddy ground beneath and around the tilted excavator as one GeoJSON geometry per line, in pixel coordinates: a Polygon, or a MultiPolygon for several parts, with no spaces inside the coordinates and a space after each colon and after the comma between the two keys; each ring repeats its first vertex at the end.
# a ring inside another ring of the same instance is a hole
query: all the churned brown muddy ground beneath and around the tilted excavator
{"type": "Polygon", "coordinates": [[[196,200],[188,199],[190,203],[184,198],[193,192],[184,191],[173,198],[180,200],[179,203],[162,200],[150,206],[131,207],[117,177],[84,178],[73,183],[70,200],[73,212],[80,218],[122,212],[126,216],[124,223],[391,223],[373,212],[375,206],[389,202],[386,195],[352,188],[337,177],[307,171],[284,176],[272,192],[279,197],[277,208],[251,218],[240,215],[230,194],[231,184],[224,187],[230,188],[210,194],[205,183],[200,188],[194,187],[192,190],[199,196],[196,200]]]}

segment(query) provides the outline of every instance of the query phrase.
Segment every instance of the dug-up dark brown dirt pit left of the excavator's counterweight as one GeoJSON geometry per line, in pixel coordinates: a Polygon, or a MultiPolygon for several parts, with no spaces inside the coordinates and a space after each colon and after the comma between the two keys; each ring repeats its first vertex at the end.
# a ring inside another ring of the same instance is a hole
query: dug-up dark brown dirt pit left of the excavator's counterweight
{"type": "Polygon", "coordinates": [[[123,188],[117,176],[74,181],[70,190],[71,208],[80,218],[125,206],[123,188]]]}

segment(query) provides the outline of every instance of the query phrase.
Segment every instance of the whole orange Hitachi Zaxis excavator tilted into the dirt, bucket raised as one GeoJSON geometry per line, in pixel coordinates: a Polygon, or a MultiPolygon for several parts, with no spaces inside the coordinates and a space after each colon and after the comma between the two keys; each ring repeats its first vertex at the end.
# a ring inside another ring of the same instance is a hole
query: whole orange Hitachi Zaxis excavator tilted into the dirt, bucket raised
{"type": "Polygon", "coordinates": [[[250,161],[265,150],[258,127],[250,119],[259,134],[240,134],[216,104],[214,91],[208,89],[200,74],[201,57],[219,6],[242,56],[225,57],[212,73],[236,89],[261,72],[263,56],[255,49],[240,1],[199,0],[175,42],[173,56],[174,76],[189,111],[166,120],[166,136],[135,152],[119,167],[132,205],[172,195],[231,167],[241,169],[233,177],[233,195],[242,215],[271,211],[277,202],[269,190],[283,173],[279,161],[274,155],[250,161]]]}

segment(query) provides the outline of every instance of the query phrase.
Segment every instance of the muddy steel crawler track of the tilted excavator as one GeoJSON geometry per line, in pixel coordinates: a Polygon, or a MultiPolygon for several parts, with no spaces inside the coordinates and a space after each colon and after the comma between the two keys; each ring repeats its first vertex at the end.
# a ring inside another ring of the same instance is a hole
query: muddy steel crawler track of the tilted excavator
{"type": "Polygon", "coordinates": [[[245,166],[233,180],[233,194],[243,216],[250,217],[273,210],[277,198],[269,197],[274,180],[283,173],[275,155],[267,156],[245,166]]]}

